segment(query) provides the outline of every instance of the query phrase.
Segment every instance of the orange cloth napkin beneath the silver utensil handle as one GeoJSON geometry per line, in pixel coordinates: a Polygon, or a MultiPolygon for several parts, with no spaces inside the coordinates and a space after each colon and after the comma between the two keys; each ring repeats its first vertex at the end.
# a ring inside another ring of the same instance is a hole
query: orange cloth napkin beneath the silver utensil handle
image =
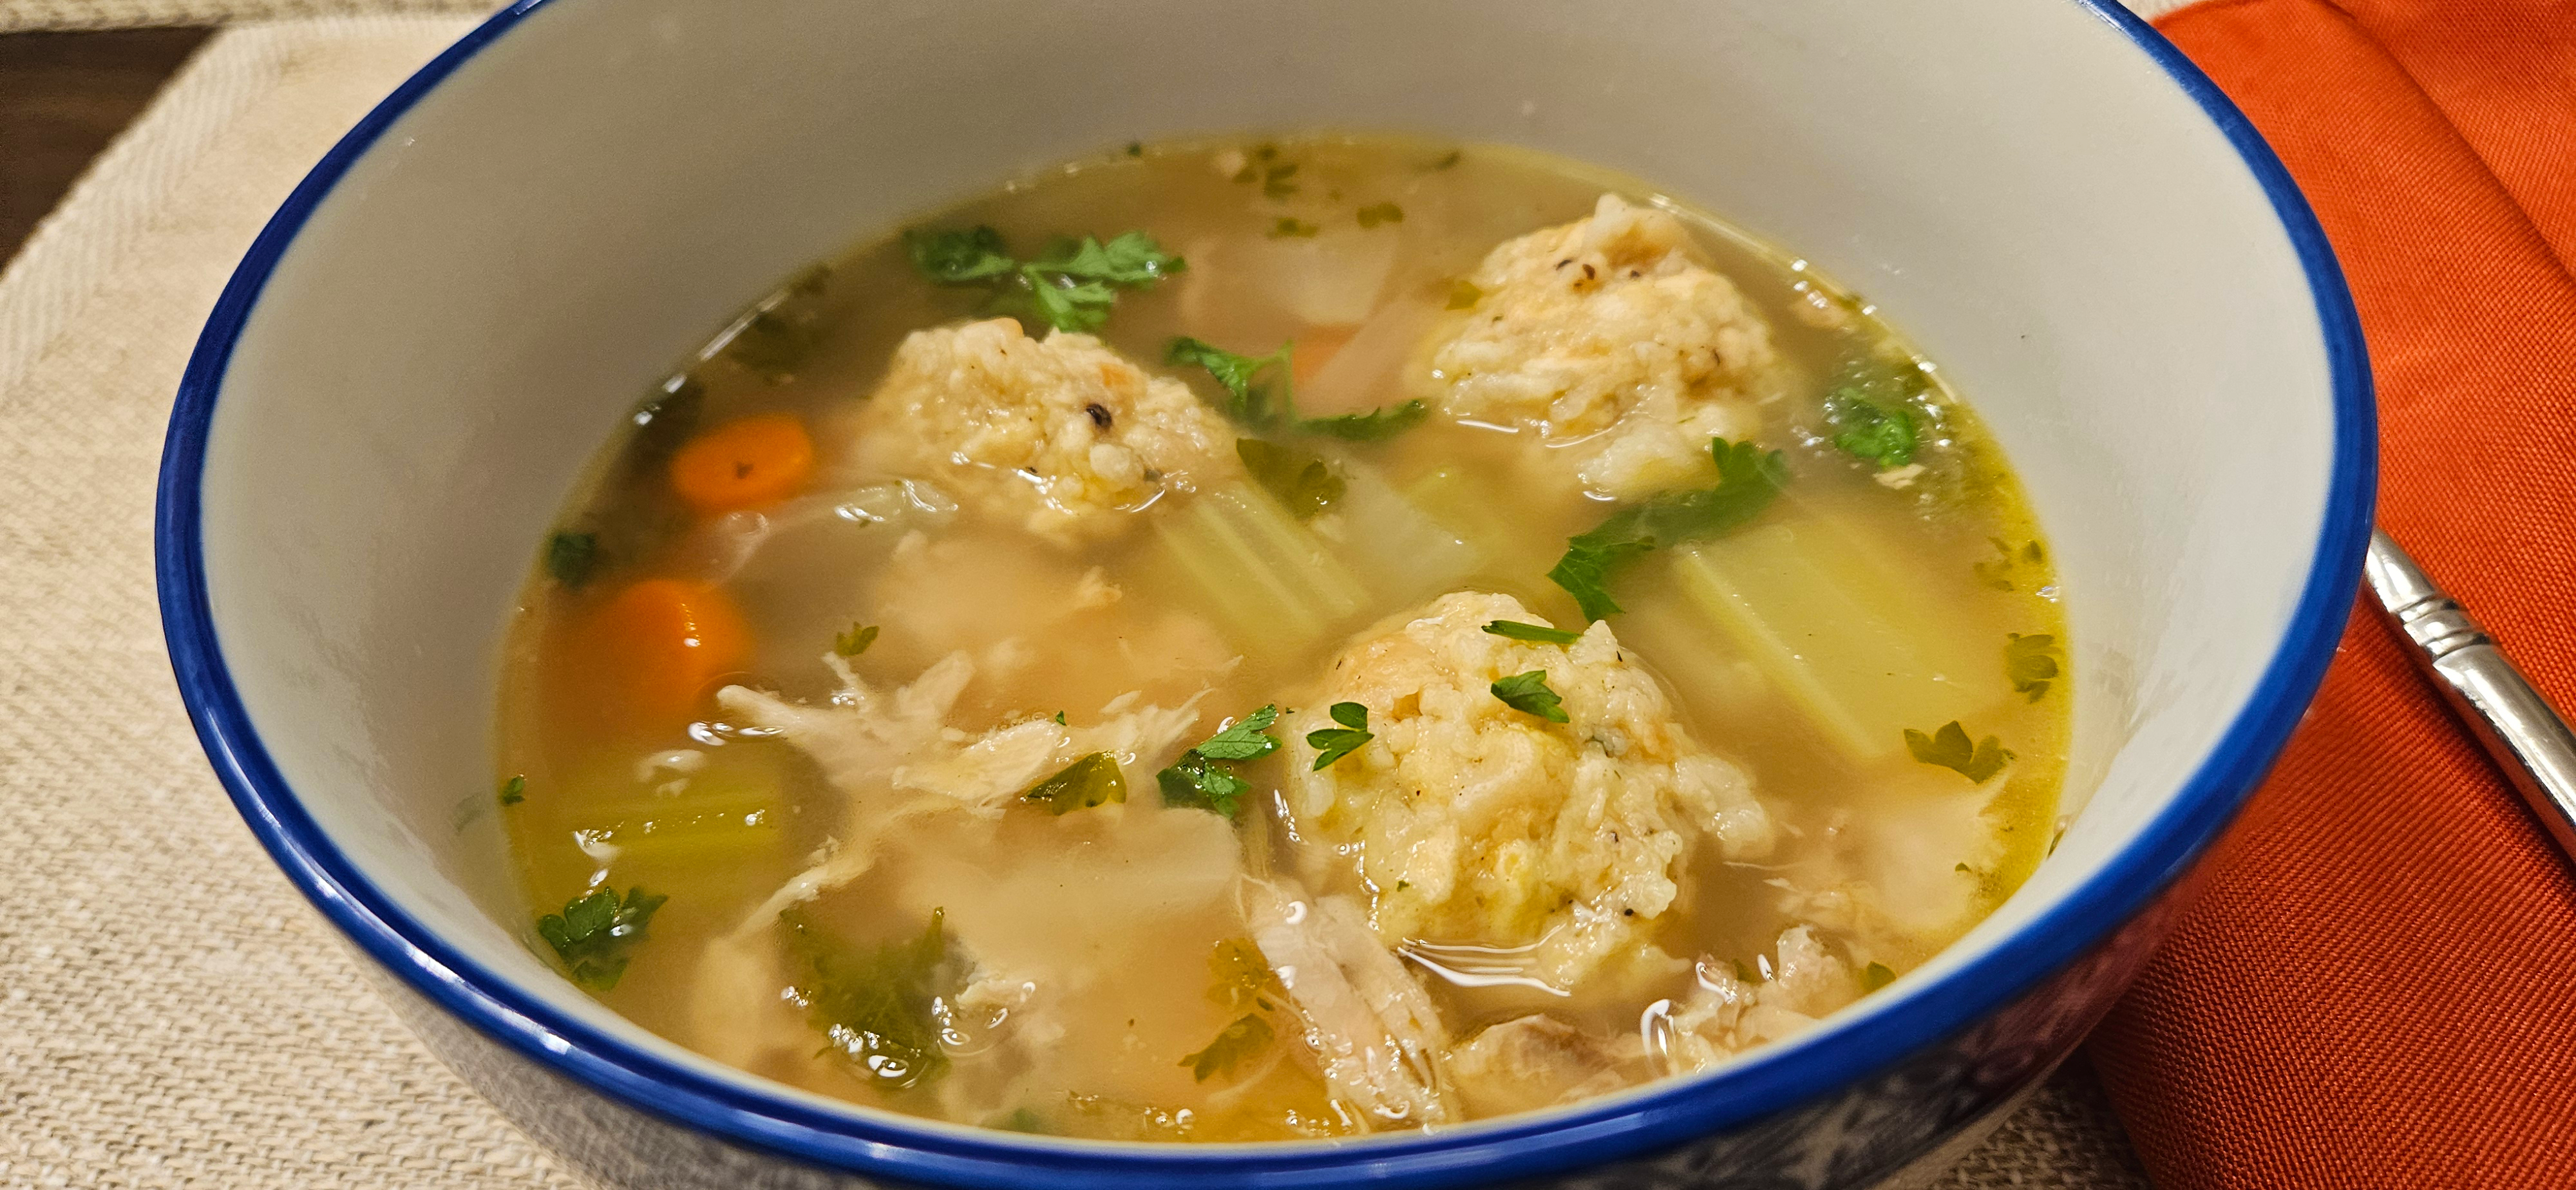
{"type": "MultiPolygon", "coordinates": [[[[2576,708],[2576,5],[2159,28],[2334,240],[2380,525],[2576,708]]],[[[2164,1190],[2576,1187],[2576,881],[2367,603],[2092,1059],[2164,1190]]]]}

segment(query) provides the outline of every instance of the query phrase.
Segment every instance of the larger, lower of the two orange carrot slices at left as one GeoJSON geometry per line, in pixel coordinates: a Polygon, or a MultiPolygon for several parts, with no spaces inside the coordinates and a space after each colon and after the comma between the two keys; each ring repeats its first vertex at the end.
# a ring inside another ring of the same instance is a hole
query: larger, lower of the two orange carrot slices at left
{"type": "Polygon", "coordinates": [[[641,580],[598,605],[580,634],[582,677],[621,726],[685,724],[726,675],[752,659],[752,628],[721,590],[641,580]]]}

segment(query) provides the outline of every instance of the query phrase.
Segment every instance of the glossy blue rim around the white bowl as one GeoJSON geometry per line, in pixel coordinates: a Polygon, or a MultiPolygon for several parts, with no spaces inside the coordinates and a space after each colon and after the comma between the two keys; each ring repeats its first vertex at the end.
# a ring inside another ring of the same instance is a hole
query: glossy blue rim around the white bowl
{"type": "Polygon", "coordinates": [[[204,582],[198,484],[206,433],[232,348],[263,286],[304,222],[394,121],[456,67],[549,3],[513,3],[404,80],[314,165],[252,242],[216,299],[180,379],[162,448],[155,567],[170,662],[206,757],[260,845],[304,896],[374,961],[446,1012],[541,1066],[683,1128],[796,1162],[958,1187],[1025,1185],[1041,1169],[1051,1185],[1100,1190],[1211,1182],[1321,1187],[1352,1177],[1440,1187],[1497,1172],[1533,1177],[1669,1149],[1880,1074],[2012,1002],[2105,940],[2182,876],[2233,819],[2287,742],[2344,634],[2370,536],[2378,443],[2370,368],[2344,276],[2280,157],[2218,85],[2115,0],[2076,0],[2164,67],[2254,173],[2308,276],[2334,399],[2324,525],[2280,649],[2174,804],[2087,883],[1947,976],[1906,987],[1899,1002],[1837,1023],[1793,1051],[1757,1053],[1723,1074],[1672,1082],[1589,1110],[1551,1113],[1528,1123],[1499,1120],[1455,1133],[1345,1146],[1084,1146],[907,1126],[891,1115],[837,1113],[714,1079],[515,989],[371,886],[307,817],[268,760],[224,670],[204,582]]]}

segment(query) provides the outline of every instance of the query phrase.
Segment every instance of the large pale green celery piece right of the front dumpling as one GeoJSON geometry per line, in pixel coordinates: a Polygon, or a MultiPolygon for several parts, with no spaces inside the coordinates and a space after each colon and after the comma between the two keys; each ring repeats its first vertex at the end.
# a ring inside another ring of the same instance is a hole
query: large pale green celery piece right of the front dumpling
{"type": "Polygon", "coordinates": [[[1844,525],[1806,518],[1685,546],[1672,577],[1852,760],[2002,703],[1999,644],[1940,613],[1844,525]]]}

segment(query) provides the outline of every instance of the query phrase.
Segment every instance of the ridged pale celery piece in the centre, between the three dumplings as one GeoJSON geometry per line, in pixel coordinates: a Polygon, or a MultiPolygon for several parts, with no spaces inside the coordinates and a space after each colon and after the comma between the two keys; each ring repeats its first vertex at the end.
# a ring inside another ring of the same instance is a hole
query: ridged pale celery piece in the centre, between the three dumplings
{"type": "Polygon", "coordinates": [[[1278,500],[1229,484],[1154,518],[1162,556],[1198,587],[1236,644],[1280,654],[1368,603],[1360,580],[1278,500]]]}

